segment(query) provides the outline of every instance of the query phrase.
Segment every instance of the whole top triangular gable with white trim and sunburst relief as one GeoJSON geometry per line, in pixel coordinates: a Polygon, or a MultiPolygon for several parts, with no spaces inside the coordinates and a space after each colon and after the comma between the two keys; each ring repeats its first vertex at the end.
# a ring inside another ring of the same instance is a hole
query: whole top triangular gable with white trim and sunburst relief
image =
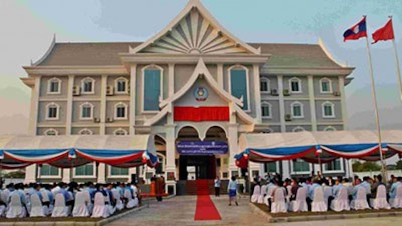
{"type": "Polygon", "coordinates": [[[198,0],[190,0],[160,33],[131,53],[260,54],[223,28],[198,0]]]}

